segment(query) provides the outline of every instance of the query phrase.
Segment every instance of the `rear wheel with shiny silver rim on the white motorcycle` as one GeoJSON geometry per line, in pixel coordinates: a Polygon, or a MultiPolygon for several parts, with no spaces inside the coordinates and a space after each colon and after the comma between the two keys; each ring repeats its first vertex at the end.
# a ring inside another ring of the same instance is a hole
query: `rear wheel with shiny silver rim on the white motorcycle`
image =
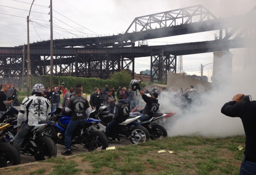
{"type": "Polygon", "coordinates": [[[143,143],[149,140],[149,132],[143,126],[135,126],[132,128],[130,142],[132,144],[143,143]]]}

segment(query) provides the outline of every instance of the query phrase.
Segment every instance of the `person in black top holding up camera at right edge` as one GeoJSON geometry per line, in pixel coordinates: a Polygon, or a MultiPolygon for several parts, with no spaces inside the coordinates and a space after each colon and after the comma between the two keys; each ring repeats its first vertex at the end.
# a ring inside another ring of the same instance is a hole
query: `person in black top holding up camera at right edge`
{"type": "Polygon", "coordinates": [[[256,174],[256,101],[243,100],[244,97],[248,96],[240,93],[235,95],[223,105],[221,113],[242,119],[246,139],[239,175],[252,175],[256,174]]]}

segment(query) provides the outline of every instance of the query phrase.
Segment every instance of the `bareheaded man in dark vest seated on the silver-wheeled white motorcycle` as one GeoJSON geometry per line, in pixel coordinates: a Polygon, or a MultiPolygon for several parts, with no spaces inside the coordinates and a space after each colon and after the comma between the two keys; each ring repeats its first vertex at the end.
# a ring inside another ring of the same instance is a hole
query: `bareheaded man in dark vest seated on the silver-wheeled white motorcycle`
{"type": "Polygon", "coordinates": [[[127,99],[123,98],[123,94],[118,95],[118,103],[116,104],[116,111],[114,114],[114,117],[112,121],[109,123],[109,125],[106,127],[105,135],[109,140],[112,140],[112,138],[109,138],[109,134],[111,133],[111,130],[118,124],[122,123],[129,117],[130,114],[130,93],[129,91],[126,91],[127,99]]]}

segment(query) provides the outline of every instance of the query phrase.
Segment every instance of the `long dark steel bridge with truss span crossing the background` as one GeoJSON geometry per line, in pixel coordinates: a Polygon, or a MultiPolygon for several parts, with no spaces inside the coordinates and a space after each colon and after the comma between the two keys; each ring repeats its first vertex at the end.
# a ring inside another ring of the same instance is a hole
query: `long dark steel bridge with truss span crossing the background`
{"type": "MultiPolygon", "coordinates": [[[[244,15],[217,18],[204,6],[197,5],[136,17],[124,34],[54,40],[54,74],[103,79],[121,70],[134,74],[135,58],[150,57],[152,81],[162,80],[168,71],[176,72],[179,55],[254,45],[255,12],[256,6],[244,15]],[[212,41],[135,47],[136,41],[213,30],[219,30],[219,37],[212,41]]],[[[32,75],[49,75],[50,40],[30,44],[30,59],[32,75]]],[[[23,46],[0,47],[0,77],[27,74],[23,46]]]]}

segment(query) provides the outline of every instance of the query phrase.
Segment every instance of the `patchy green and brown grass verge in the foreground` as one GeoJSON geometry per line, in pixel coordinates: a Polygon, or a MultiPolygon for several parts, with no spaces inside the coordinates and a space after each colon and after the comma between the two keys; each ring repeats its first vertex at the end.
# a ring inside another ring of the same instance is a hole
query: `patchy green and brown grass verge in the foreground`
{"type": "MultiPolygon", "coordinates": [[[[243,136],[168,137],[138,145],[117,147],[116,150],[82,153],[70,157],[69,161],[63,157],[47,159],[40,162],[39,170],[35,167],[26,174],[238,175],[244,149],[239,151],[237,147],[244,147],[244,140],[243,136]],[[160,154],[158,151],[161,149],[173,151],[173,154],[160,154]]],[[[11,171],[1,170],[1,173],[13,175],[14,171],[19,174],[24,170],[26,169],[13,168],[11,171]]]]}

